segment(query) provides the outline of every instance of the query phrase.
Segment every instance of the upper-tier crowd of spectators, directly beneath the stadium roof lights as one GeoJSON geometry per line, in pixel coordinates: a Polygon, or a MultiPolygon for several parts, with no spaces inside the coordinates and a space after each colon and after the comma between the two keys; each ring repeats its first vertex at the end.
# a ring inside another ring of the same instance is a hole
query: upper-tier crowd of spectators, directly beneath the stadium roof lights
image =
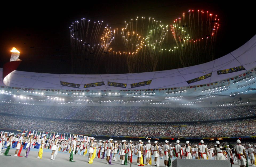
{"type": "Polygon", "coordinates": [[[38,118],[112,121],[112,122],[197,122],[234,119],[256,115],[256,105],[169,108],[169,107],[107,107],[107,106],[35,106],[0,104],[0,113],[38,118]]]}

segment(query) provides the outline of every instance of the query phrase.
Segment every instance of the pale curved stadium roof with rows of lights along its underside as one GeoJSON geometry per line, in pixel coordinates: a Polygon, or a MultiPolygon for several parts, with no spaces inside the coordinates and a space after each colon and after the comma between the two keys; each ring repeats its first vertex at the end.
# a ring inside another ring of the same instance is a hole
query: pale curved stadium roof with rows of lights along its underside
{"type": "Polygon", "coordinates": [[[208,105],[202,104],[211,106],[213,103],[222,105],[232,102],[234,97],[238,98],[239,93],[239,97],[254,102],[255,41],[256,35],[235,51],[204,64],[157,72],[78,75],[13,71],[3,83],[3,69],[0,68],[0,85],[2,90],[9,91],[12,95],[21,93],[12,90],[20,89],[25,93],[41,92],[43,97],[54,97],[61,93],[66,102],[76,101],[77,104],[81,104],[77,102],[78,98],[81,101],[80,98],[85,100],[86,96],[95,105],[107,101],[129,105],[128,103],[134,104],[137,101],[162,106],[170,104],[168,100],[172,99],[168,97],[174,97],[173,101],[180,101],[175,102],[175,107],[179,107],[214,96],[207,102],[208,105]]]}

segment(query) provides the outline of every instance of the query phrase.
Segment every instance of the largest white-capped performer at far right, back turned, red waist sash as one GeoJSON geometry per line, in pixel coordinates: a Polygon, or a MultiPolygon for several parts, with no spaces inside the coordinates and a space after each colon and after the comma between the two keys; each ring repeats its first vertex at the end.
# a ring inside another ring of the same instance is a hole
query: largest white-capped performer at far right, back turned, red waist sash
{"type": "Polygon", "coordinates": [[[241,141],[237,140],[237,145],[234,147],[235,155],[237,156],[237,162],[240,167],[246,166],[245,147],[241,145],[241,141]]]}

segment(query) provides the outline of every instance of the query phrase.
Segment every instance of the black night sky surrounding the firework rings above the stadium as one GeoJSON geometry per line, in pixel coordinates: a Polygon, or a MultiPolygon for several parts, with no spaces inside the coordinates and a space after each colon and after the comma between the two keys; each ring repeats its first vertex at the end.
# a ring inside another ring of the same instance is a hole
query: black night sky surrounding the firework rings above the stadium
{"type": "MultiPolygon", "coordinates": [[[[224,1],[42,1],[6,6],[1,11],[0,67],[10,59],[16,47],[22,60],[17,70],[43,73],[71,73],[69,27],[81,18],[103,20],[112,27],[136,16],[154,17],[165,24],[189,9],[211,11],[218,15],[215,58],[243,45],[255,35],[254,4],[224,4],[224,1]]],[[[231,2],[231,1],[230,1],[231,2]]],[[[243,3],[243,1],[241,1],[243,3]]],[[[4,6],[3,6],[4,8],[4,6]]],[[[118,73],[118,72],[116,72],[118,73]]]]}

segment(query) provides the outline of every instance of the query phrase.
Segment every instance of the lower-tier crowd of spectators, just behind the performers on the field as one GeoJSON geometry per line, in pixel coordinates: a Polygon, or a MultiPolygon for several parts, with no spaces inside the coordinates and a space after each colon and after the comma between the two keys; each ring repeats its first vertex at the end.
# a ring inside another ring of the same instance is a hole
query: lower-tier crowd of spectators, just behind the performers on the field
{"type": "Polygon", "coordinates": [[[76,133],[84,135],[141,137],[225,137],[255,136],[255,119],[192,124],[92,123],[48,120],[0,114],[0,127],[18,130],[76,133]]]}

